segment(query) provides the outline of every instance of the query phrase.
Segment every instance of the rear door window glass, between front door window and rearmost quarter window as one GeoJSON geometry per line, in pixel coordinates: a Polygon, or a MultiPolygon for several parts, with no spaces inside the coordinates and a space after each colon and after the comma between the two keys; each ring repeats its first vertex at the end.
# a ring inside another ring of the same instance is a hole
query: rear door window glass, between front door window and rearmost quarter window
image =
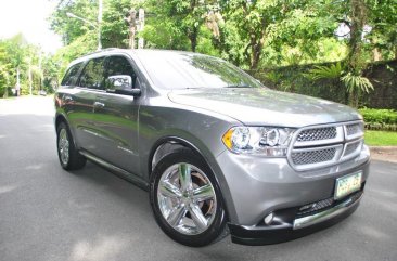
{"type": "Polygon", "coordinates": [[[88,62],[81,73],[79,87],[98,90],[104,89],[103,61],[104,57],[100,57],[88,62]]]}

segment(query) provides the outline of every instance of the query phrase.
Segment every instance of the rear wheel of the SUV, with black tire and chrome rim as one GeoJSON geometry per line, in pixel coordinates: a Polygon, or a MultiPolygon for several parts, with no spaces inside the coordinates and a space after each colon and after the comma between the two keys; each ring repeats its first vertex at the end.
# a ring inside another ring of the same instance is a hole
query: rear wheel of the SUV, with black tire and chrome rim
{"type": "Polygon", "coordinates": [[[61,122],[56,129],[57,157],[65,170],[78,170],[85,167],[87,159],[75,147],[69,128],[61,122]]]}

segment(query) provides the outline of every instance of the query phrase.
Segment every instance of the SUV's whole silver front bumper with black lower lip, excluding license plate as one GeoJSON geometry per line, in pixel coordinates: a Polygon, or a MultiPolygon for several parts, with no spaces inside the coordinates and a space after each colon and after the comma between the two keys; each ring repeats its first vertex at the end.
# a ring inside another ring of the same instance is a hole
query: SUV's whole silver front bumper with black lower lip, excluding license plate
{"type": "Polygon", "coordinates": [[[253,159],[226,152],[217,161],[225,179],[221,190],[232,240],[264,245],[302,237],[354,212],[369,175],[370,153],[363,146],[351,160],[300,172],[283,158],[253,159]],[[334,200],[335,180],[355,172],[362,173],[361,191],[334,200]],[[311,205],[317,207],[307,207],[311,205]],[[266,224],[270,213],[274,221],[266,224]]]}

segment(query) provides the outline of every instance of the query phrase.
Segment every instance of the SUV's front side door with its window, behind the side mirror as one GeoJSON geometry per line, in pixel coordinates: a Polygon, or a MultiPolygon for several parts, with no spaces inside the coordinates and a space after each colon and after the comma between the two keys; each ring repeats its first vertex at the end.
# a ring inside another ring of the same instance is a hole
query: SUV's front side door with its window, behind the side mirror
{"type": "MultiPolygon", "coordinates": [[[[132,63],[124,55],[107,56],[105,61],[104,79],[128,75],[132,78],[132,87],[139,87],[132,63]]],[[[131,88],[132,88],[131,87],[131,88]]],[[[115,90],[106,87],[97,92],[93,126],[97,138],[95,154],[106,161],[139,174],[138,151],[138,110],[140,97],[116,94],[115,90]]]]}

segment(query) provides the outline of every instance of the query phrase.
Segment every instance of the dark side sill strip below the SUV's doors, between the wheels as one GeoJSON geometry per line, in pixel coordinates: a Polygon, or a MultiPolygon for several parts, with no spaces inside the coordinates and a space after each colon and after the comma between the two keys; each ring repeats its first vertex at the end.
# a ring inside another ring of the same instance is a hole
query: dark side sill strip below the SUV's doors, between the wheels
{"type": "Polygon", "coordinates": [[[148,190],[149,188],[149,183],[143,180],[142,178],[135,175],[121,168],[118,168],[117,166],[114,166],[101,158],[98,158],[97,156],[86,152],[86,151],[80,151],[79,152],[82,156],[85,156],[87,159],[94,161],[95,164],[99,164],[103,167],[105,167],[106,169],[114,171],[115,174],[117,174],[118,177],[120,177],[121,179],[128,180],[135,184],[137,184],[138,186],[142,187],[143,190],[148,190]]]}

